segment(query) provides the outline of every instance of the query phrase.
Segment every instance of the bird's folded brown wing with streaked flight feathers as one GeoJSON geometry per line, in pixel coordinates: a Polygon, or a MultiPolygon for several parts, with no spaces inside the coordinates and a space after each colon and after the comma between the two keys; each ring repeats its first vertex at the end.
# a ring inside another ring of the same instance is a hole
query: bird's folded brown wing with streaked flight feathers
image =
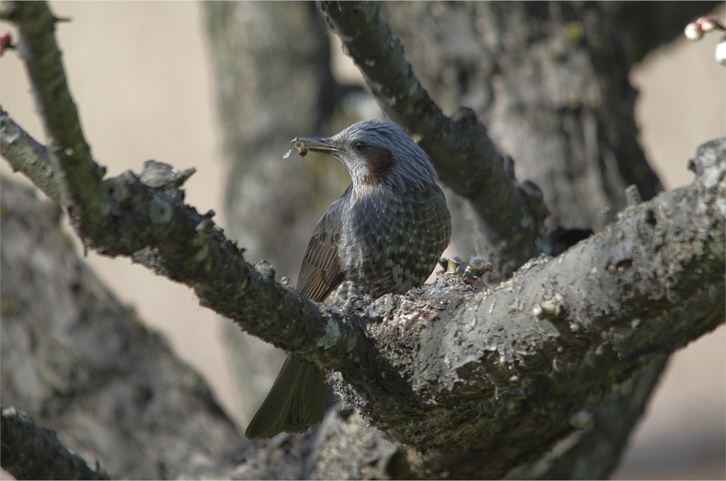
{"type": "Polygon", "coordinates": [[[346,194],[333,202],[318,221],[295,289],[299,295],[319,303],[343,282],[343,268],[338,259],[338,242],[343,223],[343,205],[346,194]]]}

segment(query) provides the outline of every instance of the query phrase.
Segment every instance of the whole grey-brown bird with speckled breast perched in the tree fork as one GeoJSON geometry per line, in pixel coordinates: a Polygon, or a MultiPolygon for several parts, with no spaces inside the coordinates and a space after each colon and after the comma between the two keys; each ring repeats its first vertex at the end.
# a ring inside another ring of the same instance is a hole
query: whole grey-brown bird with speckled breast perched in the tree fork
{"type": "MultiPolygon", "coordinates": [[[[451,237],[446,198],[423,149],[404,128],[384,119],[361,120],[331,137],[293,141],[301,156],[332,155],[352,180],[318,221],[295,292],[321,303],[344,281],[348,292],[373,298],[420,287],[451,237]]],[[[322,369],[288,356],[245,437],[265,439],[317,426],[325,416],[326,392],[322,369]]]]}

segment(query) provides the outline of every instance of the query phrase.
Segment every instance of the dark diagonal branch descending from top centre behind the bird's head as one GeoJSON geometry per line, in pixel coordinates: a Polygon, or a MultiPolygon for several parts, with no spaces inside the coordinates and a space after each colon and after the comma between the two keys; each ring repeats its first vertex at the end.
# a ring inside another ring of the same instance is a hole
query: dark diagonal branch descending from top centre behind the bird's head
{"type": "Polygon", "coordinates": [[[542,192],[519,183],[513,161],[503,156],[474,112],[460,109],[446,117],[423,89],[372,2],[321,1],[331,30],[343,42],[388,118],[420,136],[441,181],[471,203],[485,224],[489,244],[497,247],[495,263],[511,271],[538,254],[547,207],[542,192]]]}

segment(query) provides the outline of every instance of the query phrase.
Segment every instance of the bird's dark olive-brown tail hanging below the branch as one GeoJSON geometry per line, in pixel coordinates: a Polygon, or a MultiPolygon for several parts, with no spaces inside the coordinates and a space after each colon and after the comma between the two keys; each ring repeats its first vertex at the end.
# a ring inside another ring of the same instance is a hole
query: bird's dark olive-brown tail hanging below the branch
{"type": "Polygon", "coordinates": [[[288,357],[267,397],[245,431],[250,440],[280,432],[301,433],[317,426],[325,416],[327,376],[312,363],[288,357]]]}

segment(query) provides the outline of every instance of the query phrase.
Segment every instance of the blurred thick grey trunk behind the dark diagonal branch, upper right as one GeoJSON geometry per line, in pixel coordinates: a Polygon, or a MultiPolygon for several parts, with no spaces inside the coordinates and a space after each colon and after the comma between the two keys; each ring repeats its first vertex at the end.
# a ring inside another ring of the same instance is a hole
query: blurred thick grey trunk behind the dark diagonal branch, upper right
{"type": "Polygon", "coordinates": [[[625,186],[646,200],[660,189],[637,144],[619,34],[595,4],[380,8],[425,89],[445,113],[476,112],[517,177],[542,189],[550,223],[597,231],[625,186]]]}

